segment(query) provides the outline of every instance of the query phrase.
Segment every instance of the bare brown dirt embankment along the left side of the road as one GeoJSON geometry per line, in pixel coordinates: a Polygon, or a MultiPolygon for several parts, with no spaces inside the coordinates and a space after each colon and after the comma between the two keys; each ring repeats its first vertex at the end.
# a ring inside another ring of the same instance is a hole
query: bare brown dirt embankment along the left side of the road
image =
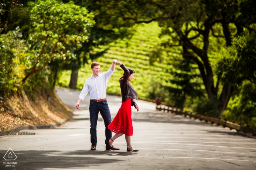
{"type": "Polygon", "coordinates": [[[56,92],[37,94],[35,100],[27,95],[14,95],[0,100],[0,131],[18,126],[45,126],[67,120],[71,109],[61,102],[56,92]]]}

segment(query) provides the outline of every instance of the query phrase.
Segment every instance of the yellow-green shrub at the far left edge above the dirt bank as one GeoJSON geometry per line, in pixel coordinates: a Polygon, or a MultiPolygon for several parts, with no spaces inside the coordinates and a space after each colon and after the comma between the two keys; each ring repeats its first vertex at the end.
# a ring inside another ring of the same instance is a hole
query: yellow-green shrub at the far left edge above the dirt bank
{"type": "Polygon", "coordinates": [[[19,91],[23,78],[22,50],[26,47],[19,28],[0,35],[0,94],[19,91]]]}

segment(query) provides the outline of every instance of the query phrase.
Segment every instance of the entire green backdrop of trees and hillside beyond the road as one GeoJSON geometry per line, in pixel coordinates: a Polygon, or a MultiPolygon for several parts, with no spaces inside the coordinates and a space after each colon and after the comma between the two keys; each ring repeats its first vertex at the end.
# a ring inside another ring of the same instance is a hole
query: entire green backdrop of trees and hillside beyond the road
{"type": "MultiPolygon", "coordinates": [[[[1,114],[39,124],[27,102],[53,97],[56,85],[81,90],[93,61],[104,72],[117,59],[135,70],[139,97],[255,128],[256,1],[177,2],[3,1],[1,114]]],[[[122,74],[117,67],[109,94],[120,94],[122,74]]]]}

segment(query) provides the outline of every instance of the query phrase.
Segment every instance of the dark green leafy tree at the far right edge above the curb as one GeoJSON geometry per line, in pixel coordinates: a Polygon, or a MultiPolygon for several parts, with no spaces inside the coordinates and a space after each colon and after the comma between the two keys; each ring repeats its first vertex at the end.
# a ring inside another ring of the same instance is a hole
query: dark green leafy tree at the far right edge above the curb
{"type": "Polygon", "coordinates": [[[223,82],[237,84],[223,117],[251,128],[256,127],[256,33],[234,37],[232,46],[223,49],[218,72],[223,82]],[[237,83],[239,82],[239,83],[237,83]]]}

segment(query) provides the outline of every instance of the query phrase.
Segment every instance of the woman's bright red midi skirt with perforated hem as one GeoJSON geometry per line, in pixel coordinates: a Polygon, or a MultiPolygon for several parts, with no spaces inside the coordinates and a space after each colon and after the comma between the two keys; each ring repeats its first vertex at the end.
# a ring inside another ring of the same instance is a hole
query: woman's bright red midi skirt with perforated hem
{"type": "Polygon", "coordinates": [[[132,136],[133,127],[131,99],[126,99],[126,101],[121,104],[116,116],[109,124],[108,129],[116,134],[123,133],[127,136],[132,136]]]}

